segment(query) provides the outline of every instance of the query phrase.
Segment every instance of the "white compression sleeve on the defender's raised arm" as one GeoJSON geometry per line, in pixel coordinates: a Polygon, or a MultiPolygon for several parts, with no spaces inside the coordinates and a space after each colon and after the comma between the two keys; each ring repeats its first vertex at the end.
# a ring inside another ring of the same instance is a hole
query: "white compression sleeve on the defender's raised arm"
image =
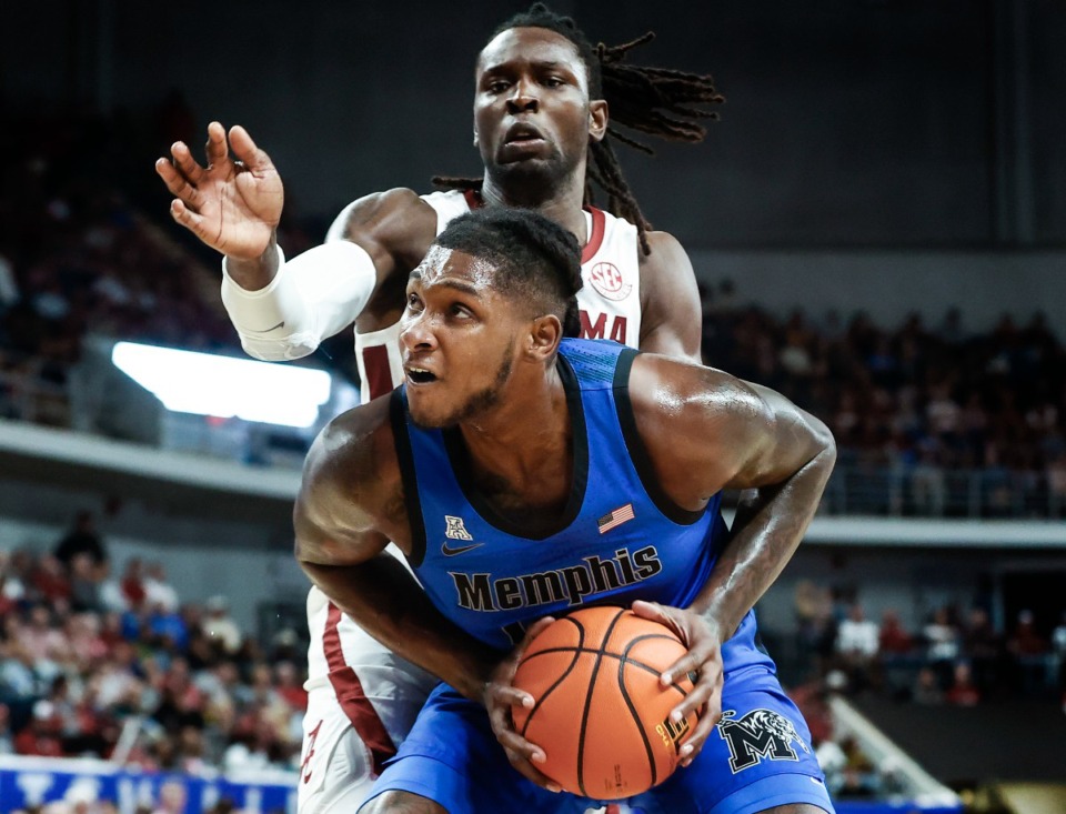
{"type": "Polygon", "coordinates": [[[249,355],[299,359],[350,325],[374,292],[370,254],[349,240],[315,247],[290,261],[278,248],[278,274],[259,291],[238,285],[222,261],[222,304],[249,355]]]}

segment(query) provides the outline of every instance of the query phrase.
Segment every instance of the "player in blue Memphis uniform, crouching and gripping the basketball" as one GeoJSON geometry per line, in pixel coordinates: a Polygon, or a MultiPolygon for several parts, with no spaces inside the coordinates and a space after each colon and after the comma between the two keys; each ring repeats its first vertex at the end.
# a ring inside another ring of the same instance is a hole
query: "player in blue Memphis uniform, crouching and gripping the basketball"
{"type": "Polygon", "coordinates": [[[408,284],[403,388],[335,419],[309,454],[298,560],[443,680],[360,811],[584,811],[514,731],[511,705],[532,699],[511,680],[551,614],[610,603],[681,635],[688,652],[661,680],[694,672],[676,712],[702,713],[682,768],[632,806],[832,812],[752,613],[814,515],[832,435],[721,371],[563,339],[581,284],[576,241],[546,218],[456,219],[408,284]],[[750,495],[730,532],[723,489],[750,495]]]}

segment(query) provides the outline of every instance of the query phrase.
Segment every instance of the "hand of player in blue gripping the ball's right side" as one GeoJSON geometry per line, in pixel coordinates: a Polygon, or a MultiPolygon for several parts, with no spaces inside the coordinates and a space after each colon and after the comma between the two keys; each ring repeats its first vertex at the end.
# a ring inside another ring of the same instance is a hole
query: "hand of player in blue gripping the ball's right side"
{"type": "Polygon", "coordinates": [[[681,765],[687,766],[700,754],[714,725],[722,717],[722,634],[704,616],[694,611],[670,607],[657,602],[637,600],[633,613],[670,627],[684,642],[688,652],[660,676],[665,687],[680,676],[695,676],[693,690],[671,711],[671,717],[682,721],[692,712],[700,713],[700,722],[681,744],[681,765]]]}

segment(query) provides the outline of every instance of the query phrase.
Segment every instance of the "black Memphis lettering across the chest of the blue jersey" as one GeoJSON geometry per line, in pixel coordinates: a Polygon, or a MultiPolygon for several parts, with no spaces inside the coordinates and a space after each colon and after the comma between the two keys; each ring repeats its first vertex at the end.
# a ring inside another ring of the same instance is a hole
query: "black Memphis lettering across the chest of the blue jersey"
{"type": "Polygon", "coordinates": [[[613,557],[592,555],[580,564],[533,574],[493,579],[490,573],[450,571],[459,605],[467,611],[514,611],[519,607],[566,602],[579,605],[585,596],[616,591],[650,580],[663,570],[654,545],[619,549],[613,557]]]}

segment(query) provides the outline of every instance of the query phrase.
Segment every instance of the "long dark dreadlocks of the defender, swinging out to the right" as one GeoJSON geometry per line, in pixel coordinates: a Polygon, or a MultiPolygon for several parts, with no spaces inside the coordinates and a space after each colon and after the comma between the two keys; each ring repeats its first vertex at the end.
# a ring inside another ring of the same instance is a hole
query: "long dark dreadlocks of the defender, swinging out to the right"
{"type": "MultiPolygon", "coordinates": [[[[626,54],[654,39],[648,31],[621,46],[593,47],[577,23],[537,2],[501,24],[492,37],[513,28],[545,28],[565,37],[577,49],[589,74],[589,96],[605,99],[611,111],[607,135],[641,152],[654,154],[646,144],[620,132],[616,124],[666,141],[698,142],[706,135],[700,119],[717,119],[717,113],[698,105],[725,101],[715,90],[714,79],[670,68],[625,63],[626,54]]],[[[490,38],[492,39],[492,38],[490,38]]],[[[641,212],[622,167],[606,138],[589,145],[585,203],[593,202],[593,182],[607,194],[607,211],[634,223],[645,254],[651,252],[645,232],[651,224],[641,212]]],[[[433,183],[449,189],[481,188],[482,179],[436,177],[433,183]]]]}

